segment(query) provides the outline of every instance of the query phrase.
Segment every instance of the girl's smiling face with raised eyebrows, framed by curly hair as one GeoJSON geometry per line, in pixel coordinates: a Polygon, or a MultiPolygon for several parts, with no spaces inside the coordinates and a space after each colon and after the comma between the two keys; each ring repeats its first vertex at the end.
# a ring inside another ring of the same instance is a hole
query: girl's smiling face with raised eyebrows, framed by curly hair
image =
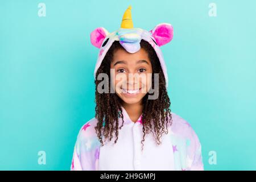
{"type": "Polygon", "coordinates": [[[112,63],[112,86],[115,93],[126,104],[136,104],[142,101],[152,83],[152,65],[148,53],[140,49],[129,53],[124,49],[114,52],[112,63]]]}

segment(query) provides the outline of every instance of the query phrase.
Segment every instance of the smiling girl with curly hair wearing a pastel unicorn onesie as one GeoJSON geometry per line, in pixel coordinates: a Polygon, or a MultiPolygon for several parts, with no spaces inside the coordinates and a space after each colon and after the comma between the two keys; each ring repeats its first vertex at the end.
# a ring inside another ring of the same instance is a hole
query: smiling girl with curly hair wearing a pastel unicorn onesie
{"type": "Polygon", "coordinates": [[[204,169],[195,131],[170,110],[159,47],[172,35],[167,23],[151,31],[133,28],[130,6],[117,31],[100,27],[91,33],[100,48],[96,116],[79,131],[71,170],[204,169]]]}

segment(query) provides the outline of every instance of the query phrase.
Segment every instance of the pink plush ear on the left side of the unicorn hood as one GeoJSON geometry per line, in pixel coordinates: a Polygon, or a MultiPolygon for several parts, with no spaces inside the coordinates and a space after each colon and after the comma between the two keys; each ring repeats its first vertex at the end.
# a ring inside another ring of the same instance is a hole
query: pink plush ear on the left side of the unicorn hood
{"type": "Polygon", "coordinates": [[[101,48],[101,44],[108,34],[108,30],[105,28],[96,28],[92,31],[92,33],[90,33],[90,42],[93,44],[93,46],[101,48]]]}

